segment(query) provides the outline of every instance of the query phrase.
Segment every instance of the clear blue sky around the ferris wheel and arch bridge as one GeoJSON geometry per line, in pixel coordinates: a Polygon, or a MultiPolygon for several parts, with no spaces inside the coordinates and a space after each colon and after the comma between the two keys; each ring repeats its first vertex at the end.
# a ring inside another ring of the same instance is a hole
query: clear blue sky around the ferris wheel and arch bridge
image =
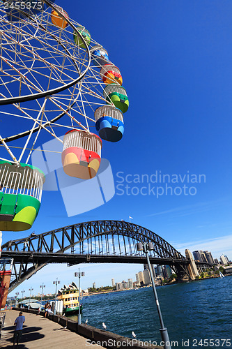
{"type": "MultiPolygon", "coordinates": [[[[115,181],[117,172],[125,177],[150,176],[156,171],[204,174],[206,181],[193,184],[196,195],[156,198],[117,195],[116,189],[114,198],[102,207],[70,218],[60,193],[45,192],[32,230],[39,233],[98,219],[128,221],[132,216],[133,223],[157,232],[181,252],[207,249],[214,258],[225,253],[231,259],[231,1],[56,3],[107,49],[123,75],[130,99],[125,134],[117,144],[105,142],[102,150],[115,181]]],[[[3,242],[30,232],[5,232],[3,242]]],[[[111,278],[134,279],[141,268],[84,265],[83,287],[93,281],[97,286],[110,285],[111,278]]],[[[68,283],[74,279],[74,269],[46,267],[17,290],[32,285],[39,292],[38,285],[44,281],[51,291],[56,276],[68,283]]]]}

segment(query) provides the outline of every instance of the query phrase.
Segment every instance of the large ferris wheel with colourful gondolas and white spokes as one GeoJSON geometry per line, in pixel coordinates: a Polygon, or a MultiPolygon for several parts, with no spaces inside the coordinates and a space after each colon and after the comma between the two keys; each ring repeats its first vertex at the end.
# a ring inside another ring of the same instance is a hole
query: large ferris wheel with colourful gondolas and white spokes
{"type": "Polygon", "coordinates": [[[107,50],[60,6],[3,1],[0,19],[0,230],[19,231],[40,208],[38,144],[56,138],[64,172],[91,179],[102,140],[123,137],[129,101],[107,50]]]}

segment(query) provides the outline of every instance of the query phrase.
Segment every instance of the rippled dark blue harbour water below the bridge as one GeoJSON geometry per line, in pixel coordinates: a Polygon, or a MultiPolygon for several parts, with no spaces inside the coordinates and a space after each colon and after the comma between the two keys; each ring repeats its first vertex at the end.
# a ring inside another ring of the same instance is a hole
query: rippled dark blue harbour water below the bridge
{"type": "MultiPolygon", "coordinates": [[[[232,348],[232,276],[166,285],[157,293],[173,348],[232,348]]],[[[82,303],[82,322],[88,318],[88,325],[100,329],[105,322],[110,332],[132,338],[134,331],[137,339],[160,344],[152,288],[93,295],[82,303]]]]}

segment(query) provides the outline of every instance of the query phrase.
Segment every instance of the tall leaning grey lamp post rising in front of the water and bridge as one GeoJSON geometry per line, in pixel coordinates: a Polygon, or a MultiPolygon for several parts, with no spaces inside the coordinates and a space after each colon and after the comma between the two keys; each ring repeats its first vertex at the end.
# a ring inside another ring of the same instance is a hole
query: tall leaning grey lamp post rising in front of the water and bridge
{"type": "Polygon", "coordinates": [[[137,243],[137,250],[138,251],[144,251],[144,253],[146,253],[146,260],[148,262],[148,269],[149,269],[149,273],[150,273],[150,279],[152,281],[153,284],[153,292],[154,292],[154,296],[155,296],[155,303],[157,306],[157,311],[158,311],[158,315],[160,318],[160,334],[161,334],[161,338],[162,341],[164,342],[164,349],[171,349],[171,345],[170,345],[170,341],[169,341],[169,334],[167,332],[167,328],[164,327],[164,321],[162,318],[162,313],[161,313],[161,309],[160,309],[160,303],[159,303],[159,299],[157,296],[157,292],[156,292],[156,288],[155,288],[155,282],[154,282],[154,278],[153,278],[153,272],[150,266],[150,260],[149,260],[149,255],[148,255],[148,251],[153,251],[154,250],[154,246],[152,242],[138,242],[137,243]]]}

